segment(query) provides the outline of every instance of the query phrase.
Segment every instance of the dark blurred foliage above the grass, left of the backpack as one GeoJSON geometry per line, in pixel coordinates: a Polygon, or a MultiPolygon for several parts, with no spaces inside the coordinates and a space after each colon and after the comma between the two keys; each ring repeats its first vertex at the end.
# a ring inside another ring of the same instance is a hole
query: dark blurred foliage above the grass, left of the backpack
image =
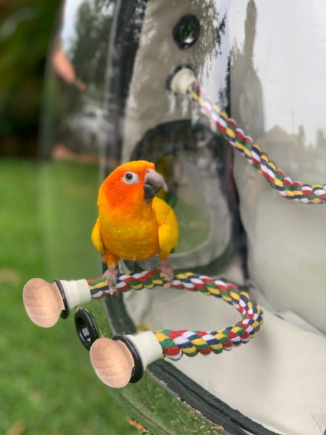
{"type": "Polygon", "coordinates": [[[1,2],[0,155],[36,155],[45,57],[59,4],[1,2]]]}

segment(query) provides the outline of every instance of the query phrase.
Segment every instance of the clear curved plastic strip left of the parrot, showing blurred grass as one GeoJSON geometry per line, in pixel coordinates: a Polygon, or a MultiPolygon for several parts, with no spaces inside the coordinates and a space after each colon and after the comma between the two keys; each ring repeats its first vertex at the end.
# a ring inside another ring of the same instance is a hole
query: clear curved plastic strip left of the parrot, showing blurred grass
{"type": "MultiPolygon", "coordinates": [[[[48,54],[40,203],[50,278],[101,273],[90,234],[110,136],[103,95],[113,9],[114,2],[64,2],[48,54]]],[[[112,153],[108,165],[116,162],[112,153]]]]}

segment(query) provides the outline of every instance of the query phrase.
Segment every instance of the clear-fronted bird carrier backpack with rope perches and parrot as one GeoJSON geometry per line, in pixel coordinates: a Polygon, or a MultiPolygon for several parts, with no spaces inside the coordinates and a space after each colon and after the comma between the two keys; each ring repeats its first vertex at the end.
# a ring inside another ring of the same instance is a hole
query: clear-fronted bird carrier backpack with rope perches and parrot
{"type": "Polygon", "coordinates": [[[41,327],[74,318],[155,435],[325,434],[325,22],[321,1],[62,6],[40,141],[52,284],[23,302],[41,327]]]}

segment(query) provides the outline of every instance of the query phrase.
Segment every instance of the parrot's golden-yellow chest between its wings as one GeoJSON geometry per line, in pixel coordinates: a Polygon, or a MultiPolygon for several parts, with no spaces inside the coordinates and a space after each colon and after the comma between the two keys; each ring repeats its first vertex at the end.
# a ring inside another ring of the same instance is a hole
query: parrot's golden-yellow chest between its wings
{"type": "Polygon", "coordinates": [[[151,206],[137,213],[100,213],[100,232],[105,249],[125,260],[146,260],[160,251],[158,225],[151,206]]]}

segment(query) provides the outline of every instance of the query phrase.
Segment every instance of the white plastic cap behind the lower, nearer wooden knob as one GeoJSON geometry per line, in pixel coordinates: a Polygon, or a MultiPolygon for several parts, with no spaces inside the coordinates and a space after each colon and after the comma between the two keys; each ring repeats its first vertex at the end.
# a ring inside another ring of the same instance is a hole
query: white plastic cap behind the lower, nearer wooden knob
{"type": "Polygon", "coordinates": [[[151,362],[160,359],[162,356],[162,348],[156,340],[155,335],[151,331],[139,332],[136,335],[126,335],[135,345],[140,358],[143,362],[144,371],[151,362]]]}

